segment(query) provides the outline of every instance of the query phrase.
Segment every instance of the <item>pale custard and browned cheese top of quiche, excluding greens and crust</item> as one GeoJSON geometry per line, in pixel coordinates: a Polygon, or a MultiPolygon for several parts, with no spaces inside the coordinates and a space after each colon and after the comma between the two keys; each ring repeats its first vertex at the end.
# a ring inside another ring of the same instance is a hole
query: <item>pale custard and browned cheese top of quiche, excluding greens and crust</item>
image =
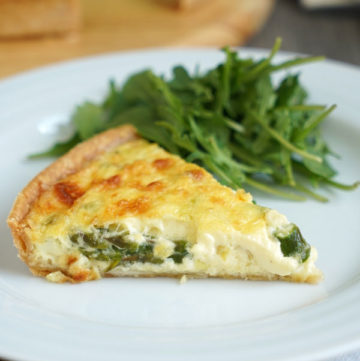
{"type": "Polygon", "coordinates": [[[181,264],[166,259],[159,265],[119,265],[108,272],[113,275],[296,274],[298,280],[306,280],[320,274],[314,249],[303,264],[283,256],[273,234],[289,226],[285,216],[253,204],[243,190],[220,185],[197,165],[144,140],[101,155],[43,192],[27,223],[31,262],[54,268],[49,280],[59,280],[59,268],[84,279],[89,279],[89,272],[92,278],[104,275],[107,262],[85,257],[69,235],[113,223],[126,229],[134,242],[141,242],[144,234],[154,235],[155,255],[164,259],[176,240],[186,240],[191,253],[181,264]]]}

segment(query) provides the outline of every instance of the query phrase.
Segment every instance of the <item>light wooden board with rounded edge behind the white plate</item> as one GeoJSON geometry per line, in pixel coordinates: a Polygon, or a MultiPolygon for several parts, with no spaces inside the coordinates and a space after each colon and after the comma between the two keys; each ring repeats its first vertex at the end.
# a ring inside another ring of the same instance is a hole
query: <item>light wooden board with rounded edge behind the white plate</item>
{"type": "Polygon", "coordinates": [[[264,24],[274,3],[275,0],[211,0],[177,11],[160,0],[80,0],[83,19],[79,32],[1,40],[0,78],[114,51],[244,44],[264,24]]]}

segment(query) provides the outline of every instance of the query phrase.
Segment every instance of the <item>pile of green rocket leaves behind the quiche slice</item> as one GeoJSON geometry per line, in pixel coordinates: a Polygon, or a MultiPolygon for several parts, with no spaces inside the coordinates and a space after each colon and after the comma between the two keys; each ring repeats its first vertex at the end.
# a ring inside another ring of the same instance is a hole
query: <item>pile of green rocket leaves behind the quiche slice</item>
{"type": "Polygon", "coordinates": [[[251,186],[293,200],[319,185],[356,188],[333,180],[334,155],[319,125],[335,105],[307,104],[298,74],[275,84],[272,74],[321,57],[300,57],[273,64],[278,39],[267,58],[240,58],[224,49],[222,64],[204,74],[173,68],[165,79],[144,70],[122,87],[111,81],[105,100],[79,105],[72,123],[75,134],[50,150],[30,156],[60,156],[77,143],[106,129],[133,124],[145,139],[190,162],[196,162],[234,189],[251,186]]]}

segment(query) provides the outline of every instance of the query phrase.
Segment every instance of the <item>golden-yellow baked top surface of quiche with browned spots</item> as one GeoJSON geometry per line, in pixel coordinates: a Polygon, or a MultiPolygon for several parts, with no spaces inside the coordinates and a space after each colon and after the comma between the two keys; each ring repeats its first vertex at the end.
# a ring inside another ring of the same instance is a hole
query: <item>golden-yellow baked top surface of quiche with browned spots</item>
{"type": "Polygon", "coordinates": [[[156,144],[135,140],[103,153],[45,190],[27,216],[31,238],[66,235],[119,219],[171,219],[197,230],[252,233],[265,226],[266,208],[243,190],[220,185],[195,164],[156,144]]]}

